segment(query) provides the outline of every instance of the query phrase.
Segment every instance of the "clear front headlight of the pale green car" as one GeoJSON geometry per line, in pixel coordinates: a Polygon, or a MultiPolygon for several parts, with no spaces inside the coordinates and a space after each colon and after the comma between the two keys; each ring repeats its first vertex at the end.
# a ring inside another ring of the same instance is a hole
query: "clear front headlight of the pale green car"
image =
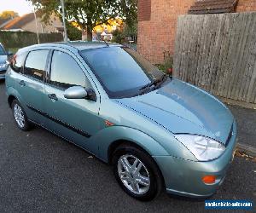
{"type": "Polygon", "coordinates": [[[175,135],[199,161],[208,161],[218,158],[225,151],[225,147],[218,141],[201,135],[175,135]]]}

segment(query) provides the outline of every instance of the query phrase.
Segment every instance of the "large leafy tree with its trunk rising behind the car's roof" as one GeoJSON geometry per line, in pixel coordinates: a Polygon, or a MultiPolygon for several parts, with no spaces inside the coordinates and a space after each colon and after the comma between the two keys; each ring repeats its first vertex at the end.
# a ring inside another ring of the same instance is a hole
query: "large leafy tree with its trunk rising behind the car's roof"
{"type": "MultiPolygon", "coordinates": [[[[29,0],[28,0],[29,1],[29,0]]],[[[44,21],[49,20],[53,12],[61,14],[59,0],[30,0],[44,14],[44,21]]],[[[65,0],[67,20],[75,21],[86,30],[87,39],[92,39],[95,26],[108,23],[116,17],[131,25],[137,20],[137,0],[65,0]]]]}

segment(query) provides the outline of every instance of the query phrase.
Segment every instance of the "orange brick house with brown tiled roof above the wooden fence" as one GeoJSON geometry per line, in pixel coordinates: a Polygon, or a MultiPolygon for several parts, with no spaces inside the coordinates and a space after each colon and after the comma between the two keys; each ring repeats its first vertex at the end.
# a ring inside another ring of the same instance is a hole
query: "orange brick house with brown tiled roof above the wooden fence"
{"type": "Polygon", "coordinates": [[[173,54],[177,16],[256,11],[256,0],[138,0],[137,50],[154,64],[173,54]]]}

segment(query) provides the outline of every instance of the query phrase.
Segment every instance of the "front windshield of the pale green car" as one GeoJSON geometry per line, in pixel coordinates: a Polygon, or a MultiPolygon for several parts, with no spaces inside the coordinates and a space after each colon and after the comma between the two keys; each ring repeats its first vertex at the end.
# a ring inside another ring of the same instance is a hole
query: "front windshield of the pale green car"
{"type": "Polygon", "coordinates": [[[80,55],[110,98],[139,95],[141,89],[164,76],[156,66],[126,47],[85,49],[80,55]]]}

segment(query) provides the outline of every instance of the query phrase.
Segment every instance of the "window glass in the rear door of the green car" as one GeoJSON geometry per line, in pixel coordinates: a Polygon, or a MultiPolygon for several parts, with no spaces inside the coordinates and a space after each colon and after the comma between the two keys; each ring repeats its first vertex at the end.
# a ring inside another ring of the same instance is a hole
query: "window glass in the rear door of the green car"
{"type": "Polygon", "coordinates": [[[44,81],[48,54],[49,50],[47,49],[30,52],[26,57],[24,74],[40,81],[44,81]]]}

